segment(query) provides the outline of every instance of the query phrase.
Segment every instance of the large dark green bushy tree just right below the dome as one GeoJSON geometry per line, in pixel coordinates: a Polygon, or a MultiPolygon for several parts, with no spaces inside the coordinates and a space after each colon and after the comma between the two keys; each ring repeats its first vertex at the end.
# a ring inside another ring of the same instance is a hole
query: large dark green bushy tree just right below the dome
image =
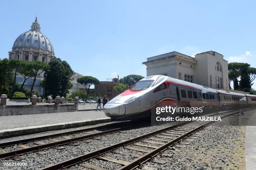
{"type": "Polygon", "coordinates": [[[73,70],[66,61],[61,61],[60,58],[53,58],[49,62],[49,69],[44,72],[44,80],[41,83],[46,95],[67,97],[69,89],[73,86],[71,83],[73,74],[73,70]]]}

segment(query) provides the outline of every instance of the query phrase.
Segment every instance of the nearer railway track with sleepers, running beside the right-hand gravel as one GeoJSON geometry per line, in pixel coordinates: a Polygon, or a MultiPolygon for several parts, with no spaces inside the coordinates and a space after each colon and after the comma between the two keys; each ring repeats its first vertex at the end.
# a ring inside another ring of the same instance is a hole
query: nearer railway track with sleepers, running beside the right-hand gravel
{"type": "MultiPolygon", "coordinates": [[[[227,111],[222,113],[214,113],[212,115],[207,116],[217,116],[219,115],[221,118],[235,115],[243,111],[254,110],[255,108],[243,109],[240,111],[227,111]]],[[[147,133],[145,135],[138,136],[136,138],[132,138],[129,140],[125,140],[123,142],[92,151],[90,153],[86,153],[84,155],[77,156],[75,158],[71,158],[69,160],[65,160],[60,163],[56,163],[54,165],[49,165],[41,170],[59,170],[64,168],[70,168],[74,165],[79,164],[84,168],[94,169],[94,170],[105,170],[102,167],[89,163],[89,160],[97,159],[103,161],[110,161],[112,163],[119,164],[120,170],[131,170],[135,168],[141,168],[143,163],[146,163],[148,160],[151,160],[159,153],[162,153],[167,148],[172,145],[179,143],[179,147],[182,148],[182,143],[184,139],[191,136],[193,133],[197,132],[198,130],[204,128],[208,124],[212,123],[213,121],[204,121],[204,122],[182,122],[177,125],[172,125],[167,128],[163,128],[160,130],[156,130],[151,133],[147,133]],[[126,150],[125,152],[120,152],[118,149],[122,148],[126,150]],[[129,152],[130,151],[130,152],[129,152]],[[131,153],[133,152],[133,153],[131,153]],[[134,154],[134,153],[140,154],[134,154]],[[111,158],[109,156],[105,156],[106,154],[115,153],[120,155],[129,155],[132,156],[134,159],[131,162],[127,162],[124,160],[118,160],[115,158],[111,158]]],[[[189,141],[189,140],[188,140],[189,141]]],[[[168,157],[168,155],[166,155],[168,157]]],[[[154,168],[144,166],[143,169],[145,170],[154,170],[154,168]]]]}

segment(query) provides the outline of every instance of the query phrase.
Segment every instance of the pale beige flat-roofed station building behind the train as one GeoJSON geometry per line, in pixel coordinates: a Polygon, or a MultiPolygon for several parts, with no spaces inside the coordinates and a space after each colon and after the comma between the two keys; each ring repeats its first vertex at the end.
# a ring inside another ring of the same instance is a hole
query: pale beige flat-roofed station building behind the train
{"type": "Polygon", "coordinates": [[[147,76],[166,75],[216,89],[228,90],[228,61],[215,51],[190,57],[173,51],[147,58],[147,76]]]}

